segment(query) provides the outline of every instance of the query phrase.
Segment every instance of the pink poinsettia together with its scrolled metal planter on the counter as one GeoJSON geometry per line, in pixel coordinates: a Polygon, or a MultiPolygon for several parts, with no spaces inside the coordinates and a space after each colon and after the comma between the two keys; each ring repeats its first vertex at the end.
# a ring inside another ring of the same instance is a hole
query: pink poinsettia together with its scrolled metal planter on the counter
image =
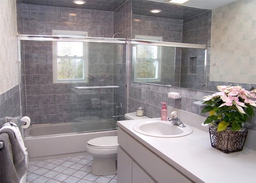
{"type": "Polygon", "coordinates": [[[254,115],[256,90],[241,86],[217,86],[220,92],[204,97],[207,106],[202,113],[209,112],[203,125],[210,126],[212,147],[224,152],[242,151],[248,129],[246,123],[254,115]]]}

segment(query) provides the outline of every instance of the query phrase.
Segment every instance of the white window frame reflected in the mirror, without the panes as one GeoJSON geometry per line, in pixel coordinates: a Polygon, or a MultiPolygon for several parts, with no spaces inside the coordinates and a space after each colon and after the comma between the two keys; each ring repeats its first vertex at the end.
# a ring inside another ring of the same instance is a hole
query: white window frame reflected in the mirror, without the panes
{"type": "MultiPolygon", "coordinates": [[[[135,39],[137,40],[147,40],[147,41],[162,41],[163,38],[159,37],[159,36],[143,36],[143,35],[135,35],[135,39]]],[[[137,50],[136,48],[132,48],[132,52],[136,52],[137,50]]],[[[137,54],[132,56],[132,60],[136,61],[133,62],[133,81],[134,82],[160,82],[161,81],[161,70],[162,70],[162,47],[158,46],[158,50],[157,50],[158,54],[158,58],[156,59],[146,59],[146,60],[152,60],[152,61],[158,61],[157,64],[157,68],[156,68],[156,78],[137,78],[137,64],[136,62],[139,60],[145,60],[143,58],[137,58],[137,54]]]]}

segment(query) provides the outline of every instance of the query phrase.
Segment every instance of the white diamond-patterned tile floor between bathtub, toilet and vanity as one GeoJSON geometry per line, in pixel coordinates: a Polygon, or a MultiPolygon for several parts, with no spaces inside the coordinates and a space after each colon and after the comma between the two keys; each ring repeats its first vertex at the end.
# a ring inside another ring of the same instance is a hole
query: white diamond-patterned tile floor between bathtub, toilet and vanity
{"type": "Polygon", "coordinates": [[[117,183],[116,174],[93,175],[91,167],[90,155],[32,161],[28,165],[26,183],[117,183]]]}

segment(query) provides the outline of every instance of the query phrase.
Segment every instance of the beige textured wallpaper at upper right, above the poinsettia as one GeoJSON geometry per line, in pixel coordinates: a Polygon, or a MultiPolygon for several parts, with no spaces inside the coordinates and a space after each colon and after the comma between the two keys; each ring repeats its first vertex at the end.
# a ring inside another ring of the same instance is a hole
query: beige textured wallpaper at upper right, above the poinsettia
{"type": "Polygon", "coordinates": [[[256,1],[212,10],[210,81],[256,84],[256,1]]]}

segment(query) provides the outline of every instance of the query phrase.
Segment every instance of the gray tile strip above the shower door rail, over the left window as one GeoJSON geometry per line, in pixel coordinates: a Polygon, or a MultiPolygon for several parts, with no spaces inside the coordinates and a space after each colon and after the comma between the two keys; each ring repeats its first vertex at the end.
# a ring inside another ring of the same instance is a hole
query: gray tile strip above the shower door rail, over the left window
{"type": "Polygon", "coordinates": [[[52,35],[53,29],[88,31],[90,37],[113,34],[113,12],[28,4],[22,10],[23,34],[52,35]]]}

